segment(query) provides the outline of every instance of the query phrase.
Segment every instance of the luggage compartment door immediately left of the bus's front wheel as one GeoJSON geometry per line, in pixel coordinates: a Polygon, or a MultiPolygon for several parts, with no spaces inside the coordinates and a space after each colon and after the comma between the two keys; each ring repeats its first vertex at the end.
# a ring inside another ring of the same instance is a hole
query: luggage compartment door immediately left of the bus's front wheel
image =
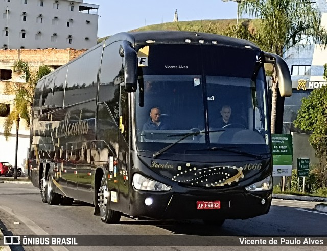
{"type": "Polygon", "coordinates": [[[78,199],[92,203],[92,176],[90,162],[90,142],[77,143],[77,189],[78,199]]]}

